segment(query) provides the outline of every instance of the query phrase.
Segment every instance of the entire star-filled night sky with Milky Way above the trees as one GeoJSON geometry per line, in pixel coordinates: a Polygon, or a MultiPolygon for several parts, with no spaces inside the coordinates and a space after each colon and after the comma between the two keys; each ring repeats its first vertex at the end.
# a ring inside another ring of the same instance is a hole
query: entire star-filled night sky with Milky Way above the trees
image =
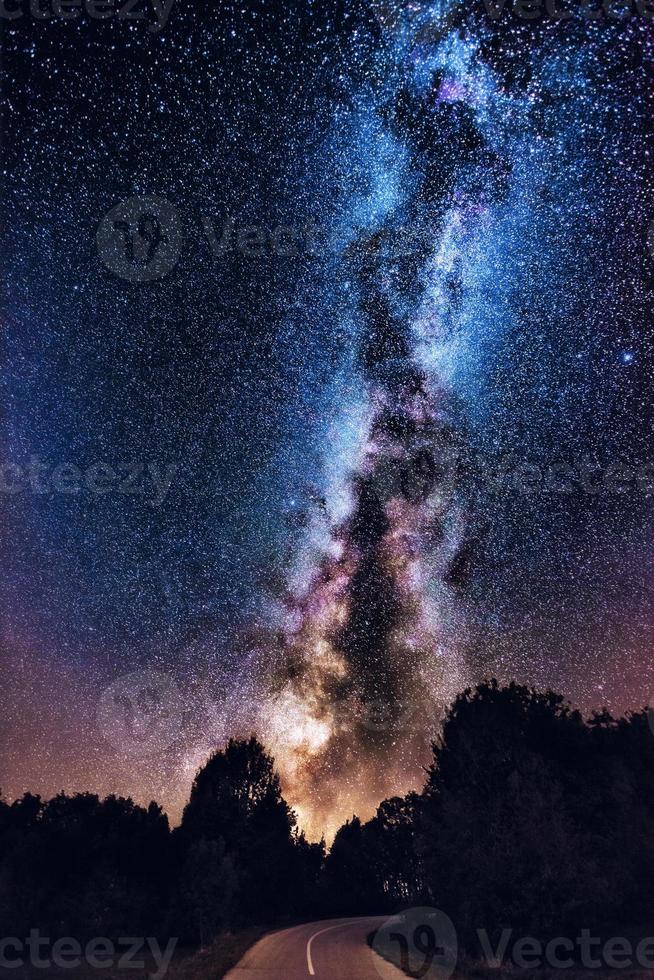
{"type": "Polygon", "coordinates": [[[482,677],[647,703],[652,19],[154,6],[2,25],[2,790],[256,731],[319,836],[482,677]]]}

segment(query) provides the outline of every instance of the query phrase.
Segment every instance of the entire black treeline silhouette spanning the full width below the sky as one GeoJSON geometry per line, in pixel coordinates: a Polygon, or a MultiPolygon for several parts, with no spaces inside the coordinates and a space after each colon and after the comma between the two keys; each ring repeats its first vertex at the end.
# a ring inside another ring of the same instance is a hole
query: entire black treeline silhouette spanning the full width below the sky
{"type": "Polygon", "coordinates": [[[181,826],[91,794],[0,802],[0,930],[178,936],[433,905],[479,928],[573,935],[654,911],[648,713],[584,721],[564,699],[492,681],[461,694],[421,793],[353,817],[329,854],[298,831],[273,760],[231,741],[181,826]]]}

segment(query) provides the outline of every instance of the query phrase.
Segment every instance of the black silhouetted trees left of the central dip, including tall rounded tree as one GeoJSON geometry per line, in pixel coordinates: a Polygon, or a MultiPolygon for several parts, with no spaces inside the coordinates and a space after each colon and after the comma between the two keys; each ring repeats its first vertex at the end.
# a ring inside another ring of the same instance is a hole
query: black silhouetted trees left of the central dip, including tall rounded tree
{"type": "Polygon", "coordinates": [[[255,738],[198,772],[181,826],[156,803],[90,793],[0,800],[0,934],[178,937],[316,910],[324,844],[310,844],[255,738]]]}

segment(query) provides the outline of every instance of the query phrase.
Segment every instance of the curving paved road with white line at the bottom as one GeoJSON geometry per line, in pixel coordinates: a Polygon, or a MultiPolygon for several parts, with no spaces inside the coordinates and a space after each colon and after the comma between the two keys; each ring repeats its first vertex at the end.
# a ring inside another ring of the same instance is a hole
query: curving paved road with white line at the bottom
{"type": "Polygon", "coordinates": [[[248,950],[225,980],[406,980],[367,943],[386,918],[328,919],[271,932],[248,950]]]}

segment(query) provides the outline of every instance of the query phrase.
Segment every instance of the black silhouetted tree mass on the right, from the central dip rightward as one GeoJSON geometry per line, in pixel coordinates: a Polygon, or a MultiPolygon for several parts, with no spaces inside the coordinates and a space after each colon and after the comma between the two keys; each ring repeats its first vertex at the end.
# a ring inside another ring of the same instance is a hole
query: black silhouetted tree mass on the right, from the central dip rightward
{"type": "Polygon", "coordinates": [[[495,681],[465,691],[422,793],[345,824],[325,877],[350,896],[347,912],[382,900],[442,909],[469,948],[477,929],[547,939],[651,920],[648,710],[584,721],[551,691],[495,681]]]}

